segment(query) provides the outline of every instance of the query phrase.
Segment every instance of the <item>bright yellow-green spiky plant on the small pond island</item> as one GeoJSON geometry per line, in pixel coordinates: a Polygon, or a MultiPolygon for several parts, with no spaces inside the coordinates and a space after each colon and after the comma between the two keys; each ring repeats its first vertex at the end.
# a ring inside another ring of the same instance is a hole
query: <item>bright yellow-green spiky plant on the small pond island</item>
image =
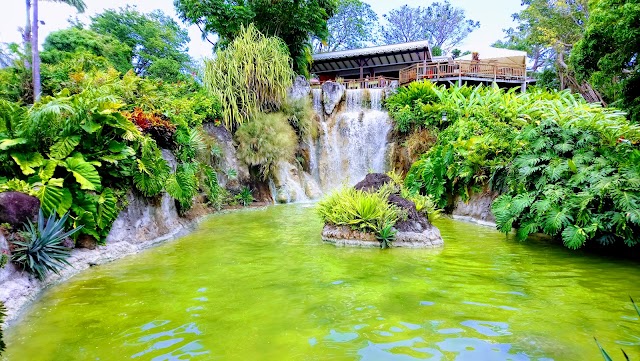
{"type": "Polygon", "coordinates": [[[318,202],[317,210],[325,223],[379,234],[398,220],[398,207],[388,200],[390,193],[388,187],[377,192],[344,187],[318,202]]]}

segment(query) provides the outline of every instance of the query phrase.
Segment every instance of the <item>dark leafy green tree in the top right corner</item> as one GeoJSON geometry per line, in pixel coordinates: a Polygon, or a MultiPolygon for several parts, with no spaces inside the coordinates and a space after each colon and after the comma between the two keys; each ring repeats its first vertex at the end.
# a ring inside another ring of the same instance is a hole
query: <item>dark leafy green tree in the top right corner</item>
{"type": "Polygon", "coordinates": [[[590,12],[570,65],[578,79],[589,80],[606,100],[619,101],[631,119],[640,122],[640,2],[602,0],[590,12]]]}

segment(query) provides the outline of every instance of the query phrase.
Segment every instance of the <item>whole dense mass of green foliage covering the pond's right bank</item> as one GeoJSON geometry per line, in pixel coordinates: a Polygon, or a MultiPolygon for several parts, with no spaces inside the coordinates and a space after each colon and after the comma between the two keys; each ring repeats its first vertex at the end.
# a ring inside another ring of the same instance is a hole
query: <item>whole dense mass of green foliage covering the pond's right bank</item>
{"type": "Polygon", "coordinates": [[[640,127],[624,113],[567,92],[429,83],[406,87],[387,107],[411,117],[405,131],[437,136],[405,183],[438,207],[490,185],[505,193],[493,205],[499,229],[516,227],[521,239],[544,232],[570,248],[638,242],[640,127]]]}

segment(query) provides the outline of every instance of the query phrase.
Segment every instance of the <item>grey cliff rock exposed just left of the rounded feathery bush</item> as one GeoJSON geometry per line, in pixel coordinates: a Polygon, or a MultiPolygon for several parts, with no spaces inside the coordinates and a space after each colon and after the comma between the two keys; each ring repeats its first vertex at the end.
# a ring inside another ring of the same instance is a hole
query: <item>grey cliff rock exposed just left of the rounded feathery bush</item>
{"type": "MultiPolygon", "coordinates": [[[[203,124],[203,128],[222,148],[223,155],[222,159],[220,159],[219,168],[225,171],[232,169],[237,174],[235,179],[230,179],[225,173],[220,172],[218,174],[220,186],[239,191],[242,185],[249,181],[249,167],[238,160],[231,133],[224,126],[216,126],[213,123],[203,124]]],[[[213,164],[214,162],[215,160],[212,159],[211,163],[213,164]]]]}

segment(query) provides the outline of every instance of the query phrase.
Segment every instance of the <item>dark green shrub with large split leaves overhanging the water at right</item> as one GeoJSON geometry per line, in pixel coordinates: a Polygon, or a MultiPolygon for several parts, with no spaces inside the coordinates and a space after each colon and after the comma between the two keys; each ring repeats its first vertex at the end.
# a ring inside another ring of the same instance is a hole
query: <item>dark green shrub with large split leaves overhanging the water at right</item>
{"type": "MultiPolygon", "coordinates": [[[[615,121],[620,115],[571,116],[544,119],[518,136],[517,141],[531,146],[513,160],[509,191],[493,205],[500,230],[518,227],[521,239],[544,232],[572,249],[588,240],[637,244],[640,150],[627,142],[608,142],[600,126],[590,123],[615,121]]],[[[635,133],[640,135],[638,129],[635,133]]]]}

